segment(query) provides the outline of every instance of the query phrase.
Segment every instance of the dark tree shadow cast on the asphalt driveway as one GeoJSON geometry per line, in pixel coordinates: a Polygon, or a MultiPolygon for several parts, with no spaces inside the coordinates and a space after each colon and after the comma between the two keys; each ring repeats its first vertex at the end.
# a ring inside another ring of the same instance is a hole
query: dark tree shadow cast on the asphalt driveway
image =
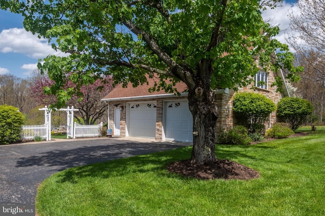
{"type": "Polygon", "coordinates": [[[53,150],[21,157],[16,162],[16,167],[43,166],[61,171],[67,168],[114,160],[117,158],[131,157],[135,155],[149,154],[157,151],[166,151],[181,146],[162,143],[136,143],[125,142],[113,145],[82,146],[69,150],[53,150]]]}

